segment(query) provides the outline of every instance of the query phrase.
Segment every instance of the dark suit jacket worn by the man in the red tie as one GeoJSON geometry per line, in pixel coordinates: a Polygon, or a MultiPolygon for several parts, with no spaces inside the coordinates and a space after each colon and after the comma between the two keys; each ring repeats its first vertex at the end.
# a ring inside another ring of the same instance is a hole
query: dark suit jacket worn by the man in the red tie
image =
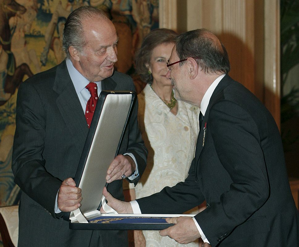
{"type": "MultiPolygon", "coordinates": [[[[102,89],[134,90],[134,85],[131,77],[115,72],[102,81],[102,89]]],[[[137,109],[136,102],[120,154],[133,153],[141,175],[147,150],[137,124],[137,109]]],[[[78,240],[80,231],[69,230],[68,222],[57,219],[60,214],[54,212],[61,182],[75,177],[88,130],[65,61],[19,87],[12,170],[23,191],[19,207],[20,246],[64,246],[63,241],[68,246],[89,246],[92,231],[82,231],[82,240],[78,240]],[[32,240],[37,229],[40,237],[32,240]]],[[[116,198],[124,199],[122,180],[112,182],[108,190],[116,198]]],[[[108,246],[113,245],[111,239],[117,239],[114,234],[106,234],[108,246]]]]}

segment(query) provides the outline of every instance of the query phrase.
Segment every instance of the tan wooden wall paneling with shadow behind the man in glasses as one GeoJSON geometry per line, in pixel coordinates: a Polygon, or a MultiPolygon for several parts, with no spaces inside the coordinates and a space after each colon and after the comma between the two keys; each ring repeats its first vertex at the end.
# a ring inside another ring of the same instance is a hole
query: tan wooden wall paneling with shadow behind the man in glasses
{"type": "Polygon", "coordinates": [[[204,27],[219,37],[230,57],[230,76],[251,90],[280,126],[279,0],[160,0],[160,5],[165,2],[176,2],[177,12],[168,11],[177,16],[175,30],[204,27]]]}

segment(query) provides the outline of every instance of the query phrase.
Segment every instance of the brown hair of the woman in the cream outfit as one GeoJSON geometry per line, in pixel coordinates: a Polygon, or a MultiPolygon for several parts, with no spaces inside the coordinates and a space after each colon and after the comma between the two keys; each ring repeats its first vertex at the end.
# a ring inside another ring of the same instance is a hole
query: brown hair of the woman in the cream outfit
{"type": "Polygon", "coordinates": [[[136,72],[144,82],[151,83],[153,81],[153,76],[148,74],[149,69],[145,65],[149,64],[154,48],[165,43],[175,44],[176,36],[178,34],[175,31],[167,28],[154,29],[145,36],[135,57],[136,72]]]}

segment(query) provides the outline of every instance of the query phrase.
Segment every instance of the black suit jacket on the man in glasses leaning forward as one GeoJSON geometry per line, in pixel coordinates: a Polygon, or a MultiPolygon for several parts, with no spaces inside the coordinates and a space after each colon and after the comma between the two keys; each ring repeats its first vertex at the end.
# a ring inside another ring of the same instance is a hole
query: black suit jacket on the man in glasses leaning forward
{"type": "Polygon", "coordinates": [[[195,219],[212,246],[299,246],[276,123],[228,75],[209,101],[186,181],[137,202],[142,213],[182,213],[204,200],[195,219]]]}

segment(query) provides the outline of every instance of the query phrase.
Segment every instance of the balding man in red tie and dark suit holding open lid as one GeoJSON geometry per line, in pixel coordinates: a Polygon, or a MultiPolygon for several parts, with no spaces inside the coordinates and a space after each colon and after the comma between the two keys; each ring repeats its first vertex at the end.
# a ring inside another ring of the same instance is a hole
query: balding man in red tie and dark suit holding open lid
{"type": "MultiPolygon", "coordinates": [[[[12,163],[22,190],[19,246],[128,246],[125,231],[70,230],[61,218],[80,207],[81,189],[73,178],[99,92],[134,90],[129,76],[113,73],[117,40],[102,11],[78,8],[65,23],[66,60],[19,88],[12,163]]],[[[103,171],[119,199],[124,199],[121,179],[137,183],[146,165],[137,109],[136,102],[120,154],[103,171]]]]}

